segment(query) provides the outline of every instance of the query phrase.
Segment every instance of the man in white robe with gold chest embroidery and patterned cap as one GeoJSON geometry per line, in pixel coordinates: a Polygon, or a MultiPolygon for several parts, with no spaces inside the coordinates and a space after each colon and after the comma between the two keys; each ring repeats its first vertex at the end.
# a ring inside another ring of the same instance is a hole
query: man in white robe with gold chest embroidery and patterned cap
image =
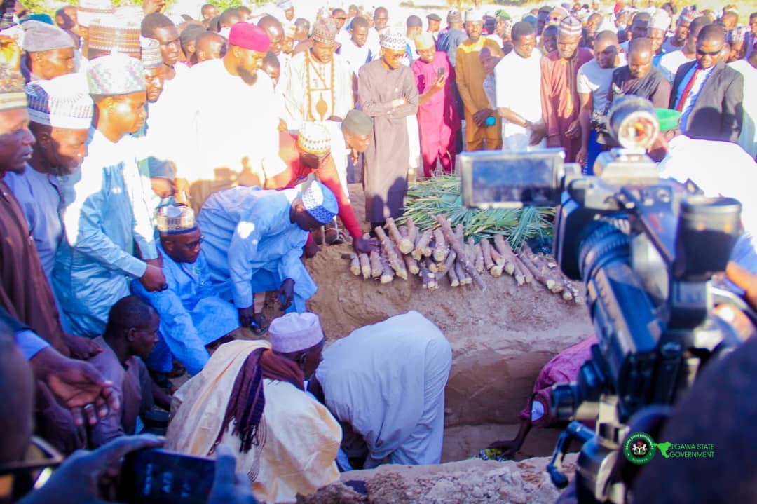
{"type": "Polygon", "coordinates": [[[313,26],[313,47],[291,58],[284,92],[289,129],[302,123],[344,119],[354,108],[353,71],[336,50],[336,24],[330,18],[313,26]]]}

